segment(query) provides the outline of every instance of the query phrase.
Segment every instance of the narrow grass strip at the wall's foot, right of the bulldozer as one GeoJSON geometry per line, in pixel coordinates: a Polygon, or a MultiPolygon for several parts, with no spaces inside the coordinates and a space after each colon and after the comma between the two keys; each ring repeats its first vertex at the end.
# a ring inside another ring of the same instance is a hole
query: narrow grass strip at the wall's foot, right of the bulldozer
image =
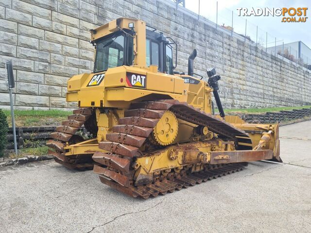
{"type": "Polygon", "coordinates": [[[265,114],[266,112],[279,112],[283,110],[291,111],[293,109],[302,109],[302,108],[311,108],[311,105],[297,106],[297,107],[276,107],[276,108],[225,109],[224,111],[227,114],[265,114]]]}

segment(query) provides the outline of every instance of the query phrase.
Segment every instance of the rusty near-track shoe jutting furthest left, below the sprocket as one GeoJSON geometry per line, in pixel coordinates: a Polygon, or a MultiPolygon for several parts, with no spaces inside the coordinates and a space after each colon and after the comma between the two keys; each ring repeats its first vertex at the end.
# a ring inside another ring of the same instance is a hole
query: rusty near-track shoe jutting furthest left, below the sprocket
{"type": "Polygon", "coordinates": [[[105,166],[111,166],[115,169],[128,172],[130,169],[130,161],[127,159],[116,157],[115,154],[106,154],[100,151],[95,152],[92,159],[105,166]]]}

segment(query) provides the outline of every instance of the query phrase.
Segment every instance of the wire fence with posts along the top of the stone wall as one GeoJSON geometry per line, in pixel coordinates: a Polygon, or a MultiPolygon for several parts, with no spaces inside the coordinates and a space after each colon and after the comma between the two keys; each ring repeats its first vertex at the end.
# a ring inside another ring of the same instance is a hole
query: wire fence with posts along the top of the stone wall
{"type": "Polygon", "coordinates": [[[311,49],[302,42],[284,44],[282,38],[268,33],[266,30],[253,24],[246,17],[238,16],[234,11],[220,6],[220,2],[208,0],[208,11],[202,9],[205,0],[172,0],[176,7],[185,7],[200,17],[215,23],[215,27],[231,36],[244,39],[295,66],[311,70],[311,49]],[[220,10],[221,9],[221,10],[220,10]],[[204,14],[203,14],[204,13],[204,14]]]}

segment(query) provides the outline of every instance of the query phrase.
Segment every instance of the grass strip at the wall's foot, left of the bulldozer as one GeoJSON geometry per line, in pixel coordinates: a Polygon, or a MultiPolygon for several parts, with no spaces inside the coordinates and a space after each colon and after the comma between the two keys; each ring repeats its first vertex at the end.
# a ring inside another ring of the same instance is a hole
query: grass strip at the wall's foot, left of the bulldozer
{"type": "MultiPolygon", "coordinates": [[[[11,111],[3,110],[12,127],[11,111]]],[[[63,110],[14,110],[16,127],[57,126],[67,119],[70,111],[63,110]]]]}

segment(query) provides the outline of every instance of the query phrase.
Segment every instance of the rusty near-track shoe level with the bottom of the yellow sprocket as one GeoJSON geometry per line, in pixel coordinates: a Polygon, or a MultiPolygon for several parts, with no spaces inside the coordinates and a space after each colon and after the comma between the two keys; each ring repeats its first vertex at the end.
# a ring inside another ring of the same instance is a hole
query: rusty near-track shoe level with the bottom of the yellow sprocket
{"type": "Polygon", "coordinates": [[[126,133],[107,133],[106,139],[112,142],[120,142],[138,148],[141,147],[146,140],[145,137],[133,136],[126,133]]]}

